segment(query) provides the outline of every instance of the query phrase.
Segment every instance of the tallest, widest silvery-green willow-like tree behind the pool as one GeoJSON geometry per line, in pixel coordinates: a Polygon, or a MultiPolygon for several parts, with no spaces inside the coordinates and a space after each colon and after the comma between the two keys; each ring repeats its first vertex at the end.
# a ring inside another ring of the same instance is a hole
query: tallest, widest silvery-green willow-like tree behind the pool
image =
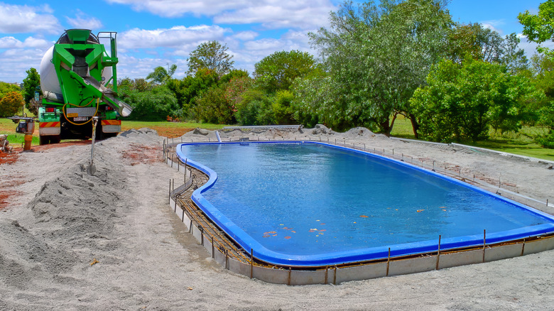
{"type": "MultiPolygon", "coordinates": [[[[396,114],[413,121],[409,99],[431,65],[445,55],[450,14],[437,0],[347,1],[330,14],[330,27],[310,33],[328,75],[303,81],[303,92],[332,92],[304,102],[320,121],[344,129],[367,126],[391,133],[396,114]],[[326,84],[325,86],[322,84],[326,84]],[[339,114],[337,114],[339,111],[339,114]]],[[[297,99],[302,101],[303,99],[297,99]]]]}

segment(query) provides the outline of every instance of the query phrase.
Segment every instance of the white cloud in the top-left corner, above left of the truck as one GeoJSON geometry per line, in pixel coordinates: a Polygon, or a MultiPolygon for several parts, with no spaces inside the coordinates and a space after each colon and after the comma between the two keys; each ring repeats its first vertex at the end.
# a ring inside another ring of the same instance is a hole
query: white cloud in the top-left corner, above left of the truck
{"type": "Polygon", "coordinates": [[[18,6],[0,2],[0,33],[59,33],[62,27],[50,6],[18,6]]]}

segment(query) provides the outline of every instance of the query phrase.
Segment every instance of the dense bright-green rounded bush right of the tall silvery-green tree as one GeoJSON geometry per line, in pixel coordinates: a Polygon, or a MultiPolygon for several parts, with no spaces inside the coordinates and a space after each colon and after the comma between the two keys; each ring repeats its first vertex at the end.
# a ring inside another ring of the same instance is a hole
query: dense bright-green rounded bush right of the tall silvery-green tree
{"type": "Polygon", "coordinates": [[[528,80],[509,75],[506,67],[481,60],[462,65],[443,60],[415,91],[411,102],[423,138],[433,141],[487,138],[494,126],[501,131],[521,128],[521,99],[530,91],[528,80]]]}

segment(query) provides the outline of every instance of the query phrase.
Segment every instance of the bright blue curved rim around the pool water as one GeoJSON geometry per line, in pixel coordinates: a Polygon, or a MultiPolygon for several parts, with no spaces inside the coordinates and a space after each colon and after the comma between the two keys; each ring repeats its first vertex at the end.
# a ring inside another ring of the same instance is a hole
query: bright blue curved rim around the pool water
{"type": "MultiPolygon", "coordinates": [[[[373,247],[369,249],[357,249],[352,251],[337,251],[332,253],[307,255],[307,256],[290,255],[290,254],[279,253],[276,251],[271,251],[269,249],[266,249],[265,246],[259,244],[259,242],[253,239],[251,236],[249,236],[249,234],[246,234],[246,232],[243,231],[239,226],[237,226],[237,224],[234,224],[234,222],[232,222],[222,212],[220,212],[219,209],[214,207],[212,203],[210,203],[208,200],[205,199],[205,197],[202,194],[205,193],[207,190],[209,190],[215,184],[215,182],[217,182],[217,173],[211,168],[208,168],[206,165],[202,165],[201,163],[197,163],[195,160],[191,160],[190,158],[187,158],[186,155],[183,154],[183,151],[181,151],[181,146],[186,146],[186,145],[229,144],[229,143],[240,144],[240,142],[182,143],[178,145],[178,147],[176,148],[176,153],[178,155],[178,158],[181,160],[181,162],[183,163],[186,162],[188,163],[188,165],[194,168],[197,168],[198,170],[201,170],[202,172],[207,174],[210,178],[205,185],[202,185],[202,187],[198,188],[197,190],[195,190],[195,192],[193,192],[191,199],[195,202],[195,204],[197,204],[198,207],[200,207],[200,209],[202,209],[202,212],[204,212],[207,215],[207,217],[209,217],[212,220],[212,222],[217,224],[217,226],[221,228],[231,239],[233,239],[237,244],[239,244],[239,246],[241,246],[241,248],[243,248],[246,251],[246,253],[252,253],[254,258],[259,259],[261,261],[265,261],[266,263],[271,263],[278,266],[307,268],[307,267],[335,266],[335,265],[342,265],[344,263],[360,263],[360,262],[382,260],[390,257],[411,256],[411,255],[417,255],[422,253],[437,252],[439,248],[438,237],[436,240],[391,245],[390,253],[389,253],[388,246],[373,247]]],[[[381,160],[386,160],[391,163],[395,163],[396,165],[401,165],[404,168],[418,170],[419,172],[422,172],[428,175],[433,175],[436,178],[447,180],[448,182],[453,182],[457,185],[462,185],[463,187],[467,187],[475,192],[479,192],[483,195],[494,197],[496,200],[507,202],[516,208],[525,209],[528,212],[532,212],[533,214],[536,214],[537,217],[547,219],[549,222],[547,224],[541,224],[541,225],[536,225],[532,227],[523,227],[519,229],[512,229],[509,231],[495,232],[492,234],[477,234],[477,235],[442,239],[442,241],[440,241],[441,251],[467,249],[471,247],[484,246],[484,244],[499,244],[502,242],[516,241],[518,239],[526,239],[532,236],[543,236],[547,234],[552,234],[554,232],[554,217],[549,214],[540,212],[536,209],[532,209],[531,207],[527,207],[523,204],[519,204],[518,202],[514,202],[512,200],[506,199],[505,197],[500,197],[499,195],[495,195],[491,192],[482,190],[479,187],[474,187],[473,185],[469,185],[465,182],[461,182],[460,180],[456,180],[455,178],[450,178],[445,175],[434,173],[433,171],[430,171],[430,170],[418,168],[417,166],[411,165],[409,163],[393,160],[391,158],[386,158],[381,155],[375,155],[373,153],[366,153],[364,151],[359,151],[352,148],[334,146],[334,145],[321,143],[321,142],[268,141],[268,142],[249,142],[249,143],[295,143],[295,144],[311,143],[311,144],[325,145],[325,146],[337,148],[343,151],[370,155],[371,157],[379,158],[381,160]]],[[[438,263],[437,263],[437,266],[438,266],[438,263]]]]}

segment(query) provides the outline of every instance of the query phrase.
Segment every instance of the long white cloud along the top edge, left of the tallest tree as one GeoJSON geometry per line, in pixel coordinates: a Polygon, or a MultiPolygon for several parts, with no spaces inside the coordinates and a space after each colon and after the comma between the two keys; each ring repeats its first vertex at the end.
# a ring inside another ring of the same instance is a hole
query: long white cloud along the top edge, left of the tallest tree
{"type": "Polygon", "coordinates": [[[185,14],[209,16],[214,23],[261,23],[264,28],[310,29],[327,23],[329,12],[337,9],[330,0],[107,0],[126,4],[135,11],[163,17],[185,14]]]}

